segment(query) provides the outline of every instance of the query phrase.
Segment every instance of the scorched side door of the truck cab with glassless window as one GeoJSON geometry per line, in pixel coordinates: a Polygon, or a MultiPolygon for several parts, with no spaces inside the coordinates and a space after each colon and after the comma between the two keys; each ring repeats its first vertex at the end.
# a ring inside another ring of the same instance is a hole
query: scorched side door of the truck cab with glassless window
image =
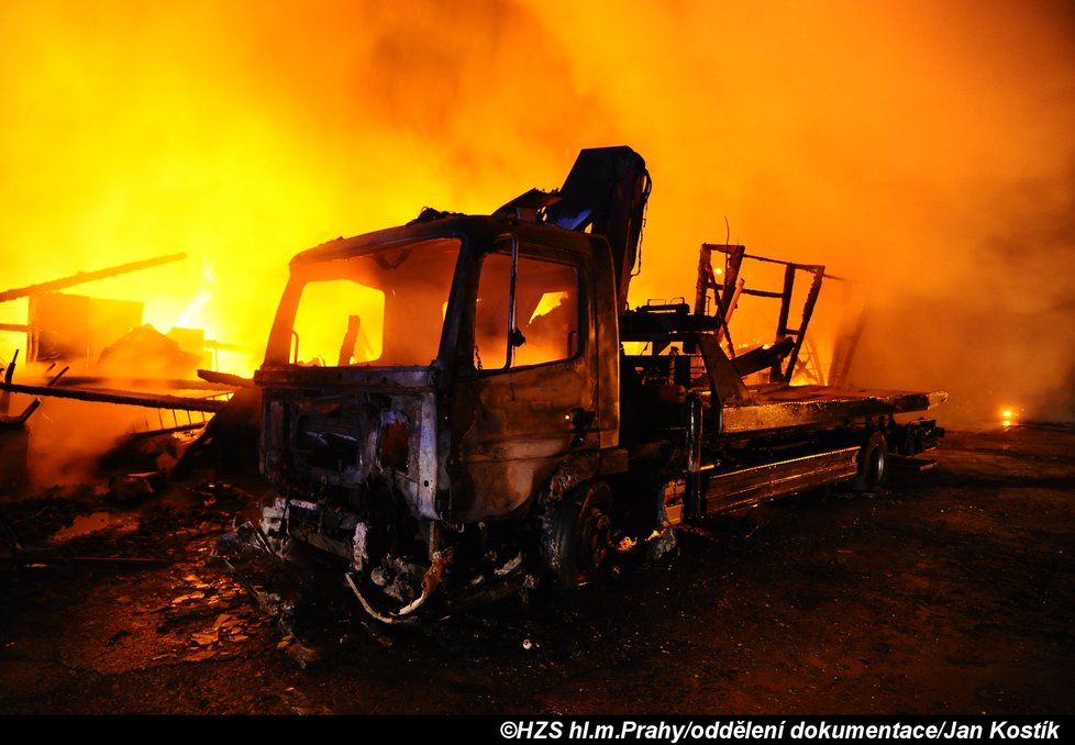
{"type": "Polygon", "coordinates": [[[587,257],[506,234],[476,269],[452,408],[461,522],[525,507],[565,454],[597,442],[587,257]]]}

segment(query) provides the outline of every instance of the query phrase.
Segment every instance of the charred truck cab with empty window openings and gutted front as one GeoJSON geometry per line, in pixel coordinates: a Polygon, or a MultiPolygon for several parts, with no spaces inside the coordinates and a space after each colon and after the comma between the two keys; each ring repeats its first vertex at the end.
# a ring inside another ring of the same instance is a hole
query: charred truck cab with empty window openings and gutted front
{"type": "Polygon", "coordinates": [[[601,326],[616,305],[596,235],[426,213],[300,254],[257,375],[281,494],[266,527],[345,558],[378,616],[369,597],[407,615],[463,559],[518,589],[511,519],[557,472],[625,465],[601,326]]]}

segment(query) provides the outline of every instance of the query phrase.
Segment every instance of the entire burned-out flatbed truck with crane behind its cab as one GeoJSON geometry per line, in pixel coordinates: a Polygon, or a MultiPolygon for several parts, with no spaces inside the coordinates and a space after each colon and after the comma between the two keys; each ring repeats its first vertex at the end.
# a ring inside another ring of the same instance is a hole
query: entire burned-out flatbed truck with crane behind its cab
{"type": "Polygon", "coordinates": [[[793,385],[823,267],[780,263],[776,337],[741,354],[742,246],[703,244],[692,308],[629,308],[650,189],[631,148],[584,149],[492,214],[426,208],[297,255],[255,374],[274,548],[331,557],[409,623],[591,582],[706,515],[875,489],[935,446],[935,420],[897,416],[943,392],[793,385]]]}

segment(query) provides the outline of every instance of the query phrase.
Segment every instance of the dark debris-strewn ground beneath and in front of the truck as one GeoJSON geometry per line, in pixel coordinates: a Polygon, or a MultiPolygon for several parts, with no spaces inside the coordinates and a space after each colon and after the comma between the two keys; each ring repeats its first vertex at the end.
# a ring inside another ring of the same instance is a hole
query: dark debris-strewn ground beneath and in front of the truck
{"type": "Polygon", "coordinates": [[[0,713],[1075,711],[1075,432],[950,432],[935,457],[424,630],[372,625],[334,574],[244,587],[215,555],[256,483],[0,494],[0,713]]]}

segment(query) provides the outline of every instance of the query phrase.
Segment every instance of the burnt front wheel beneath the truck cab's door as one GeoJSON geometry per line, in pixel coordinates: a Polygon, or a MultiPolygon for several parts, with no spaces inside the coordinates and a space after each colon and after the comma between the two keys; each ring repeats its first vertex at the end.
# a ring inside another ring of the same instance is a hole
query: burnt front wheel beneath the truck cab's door
{"type": "Polygon", "coordinates": [[[554,516],[552,560],[561,585],[575,589],[603,572],[612,553],[612,491],[603,481],[580,486],[554,516]]]}

